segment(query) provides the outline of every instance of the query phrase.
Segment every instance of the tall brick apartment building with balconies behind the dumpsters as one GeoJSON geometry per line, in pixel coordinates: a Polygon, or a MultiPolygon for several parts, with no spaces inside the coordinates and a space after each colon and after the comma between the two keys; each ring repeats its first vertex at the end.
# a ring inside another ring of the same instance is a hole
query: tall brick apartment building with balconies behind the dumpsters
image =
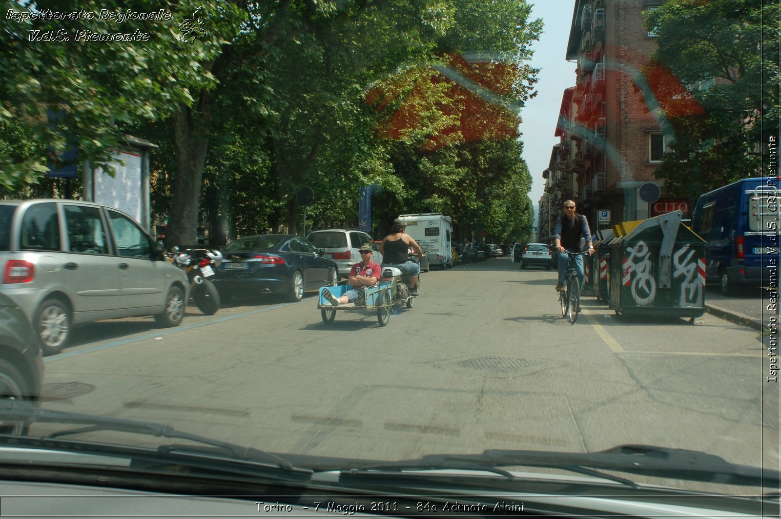
{"type": "MultiPolygon", "coordinates": [[[[654,170],[672,133],[666,123],[675,102],[662,91],[678,87],[651,64],[654,35],[644,29],[650,0],[575,0],[566,59],[577,61],[576,84],[562,95],[555,135],[560,138],[543,172],[538,238],[550,240],[568,198],[587,215],[592,229],[645,219],[675,207],[654,170]],[[656,183],[662,197],[648,204],[640,186],[656,183]],[[664,205],[665,202],[668,204],[664,205]],[[661,204],[660,204],[661,203],[661,204]],[[608,222],[597,211],[609,210],[608,222]]],[[[674,90],[674,88],[672,89],[674,90]]],[[[685,206],[684,206],[685,208],[685,206]]]]}

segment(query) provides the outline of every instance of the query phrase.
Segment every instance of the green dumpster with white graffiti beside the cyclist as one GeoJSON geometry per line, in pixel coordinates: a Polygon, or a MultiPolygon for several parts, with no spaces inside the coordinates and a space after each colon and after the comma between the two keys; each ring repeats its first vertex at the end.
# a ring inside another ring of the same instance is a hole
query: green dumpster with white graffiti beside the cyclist
{"type": "Polygon", "coordinates": [[[705,312],[705,242],[680,211],[614,227],[608,245],[608,305],[621,315],[700,317],[705,312]]]}

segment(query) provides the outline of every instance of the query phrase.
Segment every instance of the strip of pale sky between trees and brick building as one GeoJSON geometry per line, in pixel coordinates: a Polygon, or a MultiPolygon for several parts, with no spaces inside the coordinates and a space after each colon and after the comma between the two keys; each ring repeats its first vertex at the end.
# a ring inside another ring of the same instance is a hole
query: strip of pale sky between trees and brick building
{"type": "MultiPolygon", "coordinates": [[[[532,17],[544,22],[540,41],[532,44],[534,50],[531,65],[540,69],[537,96],[521,110],[522,157],[529,166],[532,190],[529,197],[534,210],[539,208],[545,180],[542,172],[551,159],[551,148],[558,144],[556,119],[562,105],[565,88],[575,86],[575,62],[565,59],[572,9],[575,0],[537,0],[532,6],[532,17]]],[[[535,224],[536,225],[536,224],[535,224]]]]}

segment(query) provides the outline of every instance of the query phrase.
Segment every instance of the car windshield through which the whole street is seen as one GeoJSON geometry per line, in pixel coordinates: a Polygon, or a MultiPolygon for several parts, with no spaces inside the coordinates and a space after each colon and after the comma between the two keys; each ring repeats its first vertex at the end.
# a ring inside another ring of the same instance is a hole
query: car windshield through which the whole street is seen
{"type": "MultiPolygon", "coordinates": [[[[55,3],[0,15],[12,400],[296,467],[651,446],[778,470],[777,2],[55,3]],[[707,232],[679,224],[702,207],[707,232]]],[[[17,432],[91,426],[62,419],[17,432]]],[[[480,463],[596,477],[548,459],[480,463]]],[[[484,494],[524,488],[496,470],[484,494]]]]}

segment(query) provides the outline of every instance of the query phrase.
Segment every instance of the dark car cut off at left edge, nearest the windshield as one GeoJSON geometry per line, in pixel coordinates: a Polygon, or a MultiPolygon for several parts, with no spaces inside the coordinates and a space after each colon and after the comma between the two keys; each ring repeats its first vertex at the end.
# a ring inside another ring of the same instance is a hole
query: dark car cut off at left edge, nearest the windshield
{"type": "MultiPolygon", "coordinates": [[[[27,315],[0,294],[0,398],[37,405],[43,375],[41,346],[27,315]]],[[[23,421],[0,421],[0,434],[23,434],[25,428],[23,421]]]]}

